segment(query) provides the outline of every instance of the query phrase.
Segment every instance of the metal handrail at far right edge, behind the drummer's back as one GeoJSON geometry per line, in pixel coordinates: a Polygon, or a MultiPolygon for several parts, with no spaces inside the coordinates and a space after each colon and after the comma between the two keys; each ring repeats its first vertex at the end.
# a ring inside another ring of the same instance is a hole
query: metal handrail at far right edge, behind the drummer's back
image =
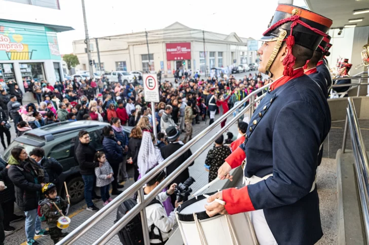
{"type": "MultiPolygon", "coordinates": [[[[362,218],[365,228],[366,244],[369,245],[369,161],[361,135],[353,99],[348,98],[347,119],[351,134],[352,151],[355,159],[356,180],[360,196],[362,218]]],[[[346,131],[347,134],[347,131],[346,131]]]]}

